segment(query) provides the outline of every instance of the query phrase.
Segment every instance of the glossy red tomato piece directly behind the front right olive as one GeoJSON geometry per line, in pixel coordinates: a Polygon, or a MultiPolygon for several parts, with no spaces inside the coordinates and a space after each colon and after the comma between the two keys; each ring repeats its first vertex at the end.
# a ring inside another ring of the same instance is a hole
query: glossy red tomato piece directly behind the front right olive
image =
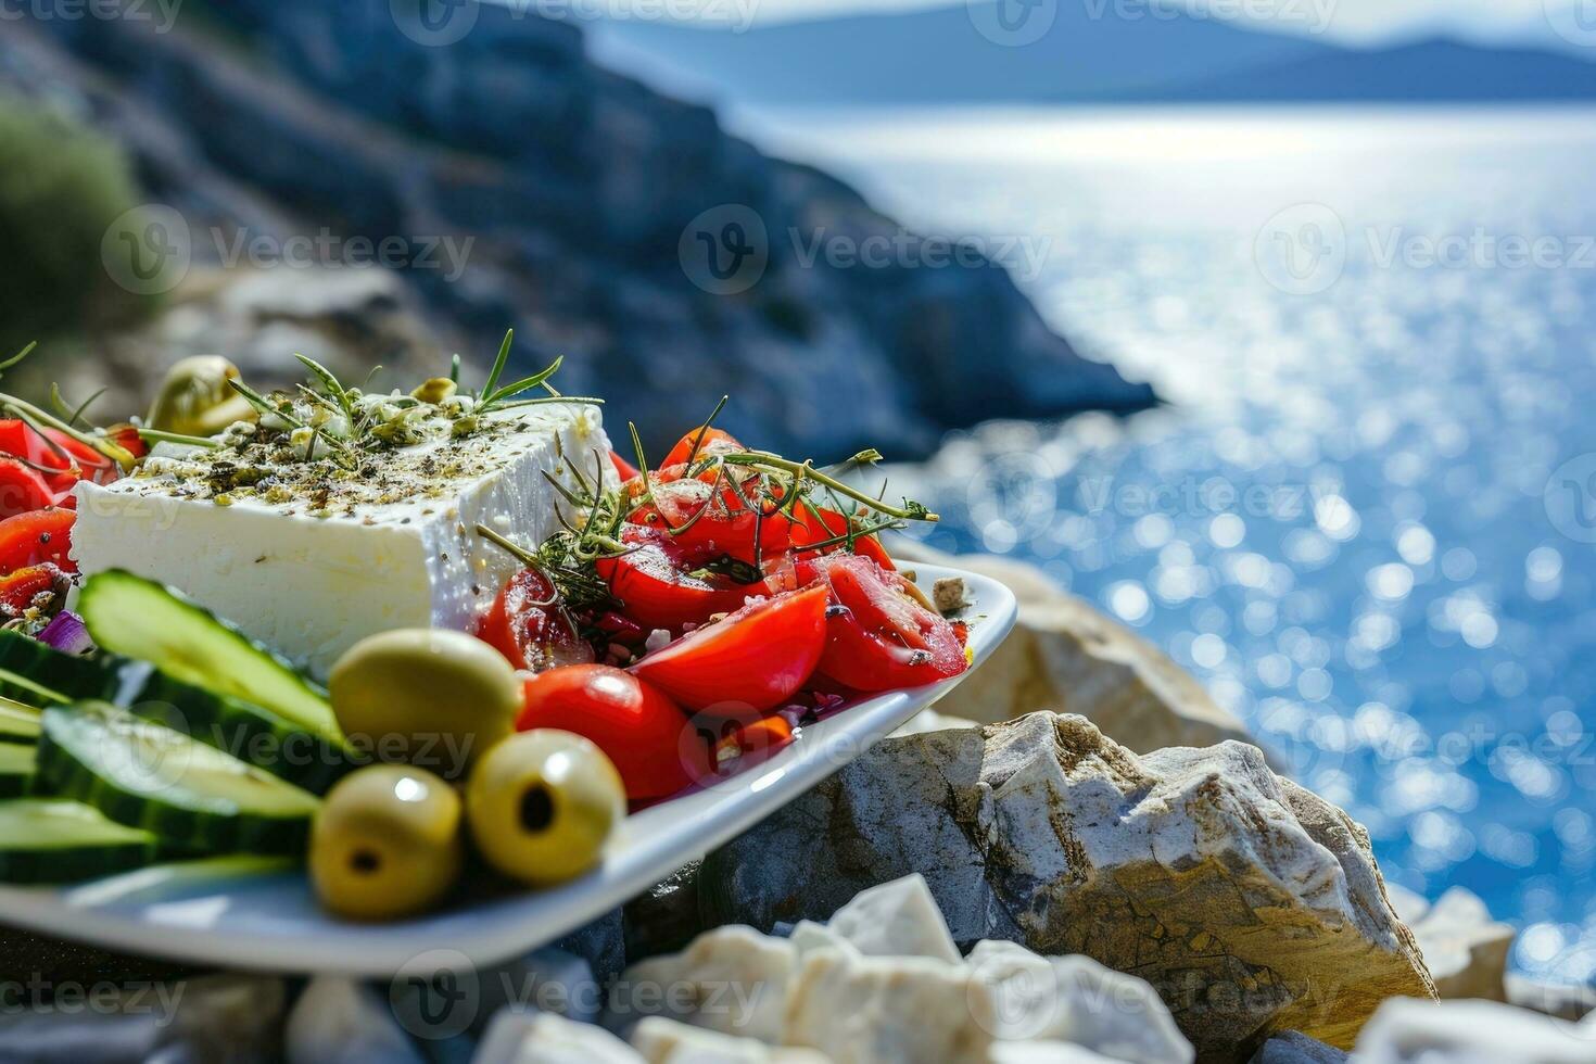
{"type": "Polygon", "coordinates": [[[517,731],[559,727],[591,739],[632,801],[669,798],[710,775],[709,747],[653,684],[608,665],[570,665],[527,681],[517,731]]]}

